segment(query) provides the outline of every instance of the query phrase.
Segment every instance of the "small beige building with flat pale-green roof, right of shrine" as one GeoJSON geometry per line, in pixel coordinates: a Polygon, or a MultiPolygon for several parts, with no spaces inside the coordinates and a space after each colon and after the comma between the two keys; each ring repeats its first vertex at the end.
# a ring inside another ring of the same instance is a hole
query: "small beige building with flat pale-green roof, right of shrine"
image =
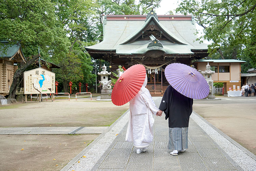
{"type": "Polygon", "coordinates": [[[204,71],[208,62],[211,70],[215,71],[215,74],[212,75],[214,83],[224,83],[224,94],[227,94],[230,87],[233,89],[233,85],[236,85],[236,87],[240,86],[241,88],[241,63],[246,61],[235,59],[200,59],[194,62],[194,66],[197,70],[204,71]]]}

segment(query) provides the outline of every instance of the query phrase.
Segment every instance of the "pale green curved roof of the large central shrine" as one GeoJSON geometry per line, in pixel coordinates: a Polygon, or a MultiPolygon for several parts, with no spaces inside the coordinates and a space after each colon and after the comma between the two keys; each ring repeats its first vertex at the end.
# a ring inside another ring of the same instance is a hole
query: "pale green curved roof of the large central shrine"
{"type": "MultiPolygon", "coordinates": [[[[136,36],[148,22],[154,20],[162,30],[170,37],[182,44],[172,43],[169,40],[160,40],[162,51],[165,54],[194,54],[191,49],[205,50],[208,44],[196,41],[196,28],[191,20],[160,20],[151,16],[146,22],[144,20],[107,20],[103,21],[103,41],[92,46],[85,47],[87,50],[95,51],[115,51],[116,54],[144,54],[148,50],[147,45],[150,41],[134,41],[126,43],[136,36]]],[[[153,49],[160,47],[152,47],[153,49]]]]}

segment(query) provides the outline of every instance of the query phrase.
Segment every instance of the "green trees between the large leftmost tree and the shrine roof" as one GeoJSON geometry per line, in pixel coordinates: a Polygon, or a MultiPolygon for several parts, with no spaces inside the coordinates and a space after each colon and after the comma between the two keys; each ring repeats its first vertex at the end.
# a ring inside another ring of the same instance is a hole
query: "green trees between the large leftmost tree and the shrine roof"
{"type": "Polygon", "coordinates": [[[60,27],[66,32],[69,39],[69,50],[63,56],[54,58],[61,68],[55,70],[56,78],[63,85],[63,90],[68,91],[68,83],[73,83],[75,89],[78,83],[89,83],[93,77],[91,73],[91,58],[85,54],[84,46],[94,44],[97,31],[91,23],[91,16],[95,3],[91,0],[52,0],[55,4],[55,14],[60,21],[60,27]],[[92,42],[92,43],[88,43],[92,42]]]}

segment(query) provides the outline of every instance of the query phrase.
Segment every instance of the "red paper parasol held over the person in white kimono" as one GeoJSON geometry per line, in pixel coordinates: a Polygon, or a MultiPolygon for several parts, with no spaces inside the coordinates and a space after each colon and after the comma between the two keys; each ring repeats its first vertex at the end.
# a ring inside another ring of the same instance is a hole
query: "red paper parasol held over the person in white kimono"
{"type": "Polygon", "coordinates": [[[146,69],[143,65],[137,64],[128,68],[116,81],[111,100],[121,106],[129,102],[140,91],[146,77],[146,69]]]}

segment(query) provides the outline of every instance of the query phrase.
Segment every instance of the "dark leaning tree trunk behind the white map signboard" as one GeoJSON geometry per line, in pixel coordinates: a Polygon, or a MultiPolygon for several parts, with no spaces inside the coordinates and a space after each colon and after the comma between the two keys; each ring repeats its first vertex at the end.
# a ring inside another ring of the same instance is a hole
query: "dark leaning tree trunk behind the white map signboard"
{"type": "Polygon", "coordinates": [[[11,98],[11,99],[15,98],[16,90],[18,88],[19,77],[23,76],[23,72],[26,70],[26,68],[28,68],[37,58],[39,58],[39,56],[40,56],[40,54],[34,56],[32,59],[27,61],[27,63],[25,63],[25,65],[20,66],[20,68],[18,68],[16,70],[16,72],[13,75],[13,82],[12,82],[12,85],[10,87],[8,98],[11,98]]]}

